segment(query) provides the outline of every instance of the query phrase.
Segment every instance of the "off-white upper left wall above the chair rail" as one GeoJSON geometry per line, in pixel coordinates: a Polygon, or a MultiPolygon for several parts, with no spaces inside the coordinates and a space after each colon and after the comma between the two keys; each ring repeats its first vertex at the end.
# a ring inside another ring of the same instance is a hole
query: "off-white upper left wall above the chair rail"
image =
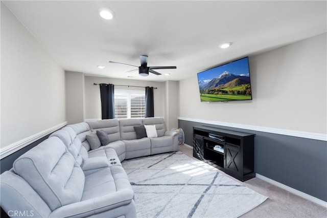
{"type": "Polygon", "coordinates": [[[63,122],[63,69],[1,3],[1,148],[63,122]]]}

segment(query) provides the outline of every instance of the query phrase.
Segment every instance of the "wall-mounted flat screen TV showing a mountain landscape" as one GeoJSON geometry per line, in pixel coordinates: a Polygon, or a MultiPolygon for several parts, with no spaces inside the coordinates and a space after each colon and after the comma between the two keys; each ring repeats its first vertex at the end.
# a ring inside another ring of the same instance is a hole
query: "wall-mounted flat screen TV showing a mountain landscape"
{"type": "Polygon", "coordinates": [[[201,101],[252,100],[249,58],[198,73],[201,101]]]}

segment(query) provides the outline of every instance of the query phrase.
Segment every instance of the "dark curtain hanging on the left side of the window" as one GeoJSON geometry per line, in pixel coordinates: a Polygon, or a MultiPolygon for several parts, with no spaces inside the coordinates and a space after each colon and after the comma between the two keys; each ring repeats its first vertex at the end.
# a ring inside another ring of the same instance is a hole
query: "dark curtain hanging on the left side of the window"
{"type": "Polygon", "coordinates": [[[114,118],[114,85],[100,84],[102,119],[114,118]]]}

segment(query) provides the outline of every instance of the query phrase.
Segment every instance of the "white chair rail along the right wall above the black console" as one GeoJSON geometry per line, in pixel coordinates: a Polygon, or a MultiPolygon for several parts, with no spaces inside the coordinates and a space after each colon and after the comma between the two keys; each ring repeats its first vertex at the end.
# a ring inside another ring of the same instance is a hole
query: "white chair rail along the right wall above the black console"
{"type": "Polygon", "coordinates": [[[264,127],[264,126],[244,125],[244,124],[238,124],[238,123],[227,123],[227,122],[219,122],[219,121],[213,121],[213,120],[201,120],[201,119],[193,119],[193,118],[187,118],[187,117],[178,117],[178,120],[227,126],[227,127],[233,127],[233,128],[242,128],[242,129],[249,129],[249,130],[265,132],[265,133],[281,134],[281,135],[286,135],[286,136],[295,136],[295,137],[300,137],[300,138],[327,141],[327,134],[320,134],[320,133],[301,132],[301,131],[290,130],[290,129],[279,129],[279,128],[272,128],[272,127],[264,127]]]}

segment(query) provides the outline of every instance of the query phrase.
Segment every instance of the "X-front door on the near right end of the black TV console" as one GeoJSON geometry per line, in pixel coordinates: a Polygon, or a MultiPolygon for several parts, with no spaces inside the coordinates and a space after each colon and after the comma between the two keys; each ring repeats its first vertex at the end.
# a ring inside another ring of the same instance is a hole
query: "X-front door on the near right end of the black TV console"
{"type": "Polygon", "coordinates": [[[242,154],[240,146],[225,144],[225,165],[224,170],[228,170],[237,175],[241,175],[242,170],[242,154]]]}

